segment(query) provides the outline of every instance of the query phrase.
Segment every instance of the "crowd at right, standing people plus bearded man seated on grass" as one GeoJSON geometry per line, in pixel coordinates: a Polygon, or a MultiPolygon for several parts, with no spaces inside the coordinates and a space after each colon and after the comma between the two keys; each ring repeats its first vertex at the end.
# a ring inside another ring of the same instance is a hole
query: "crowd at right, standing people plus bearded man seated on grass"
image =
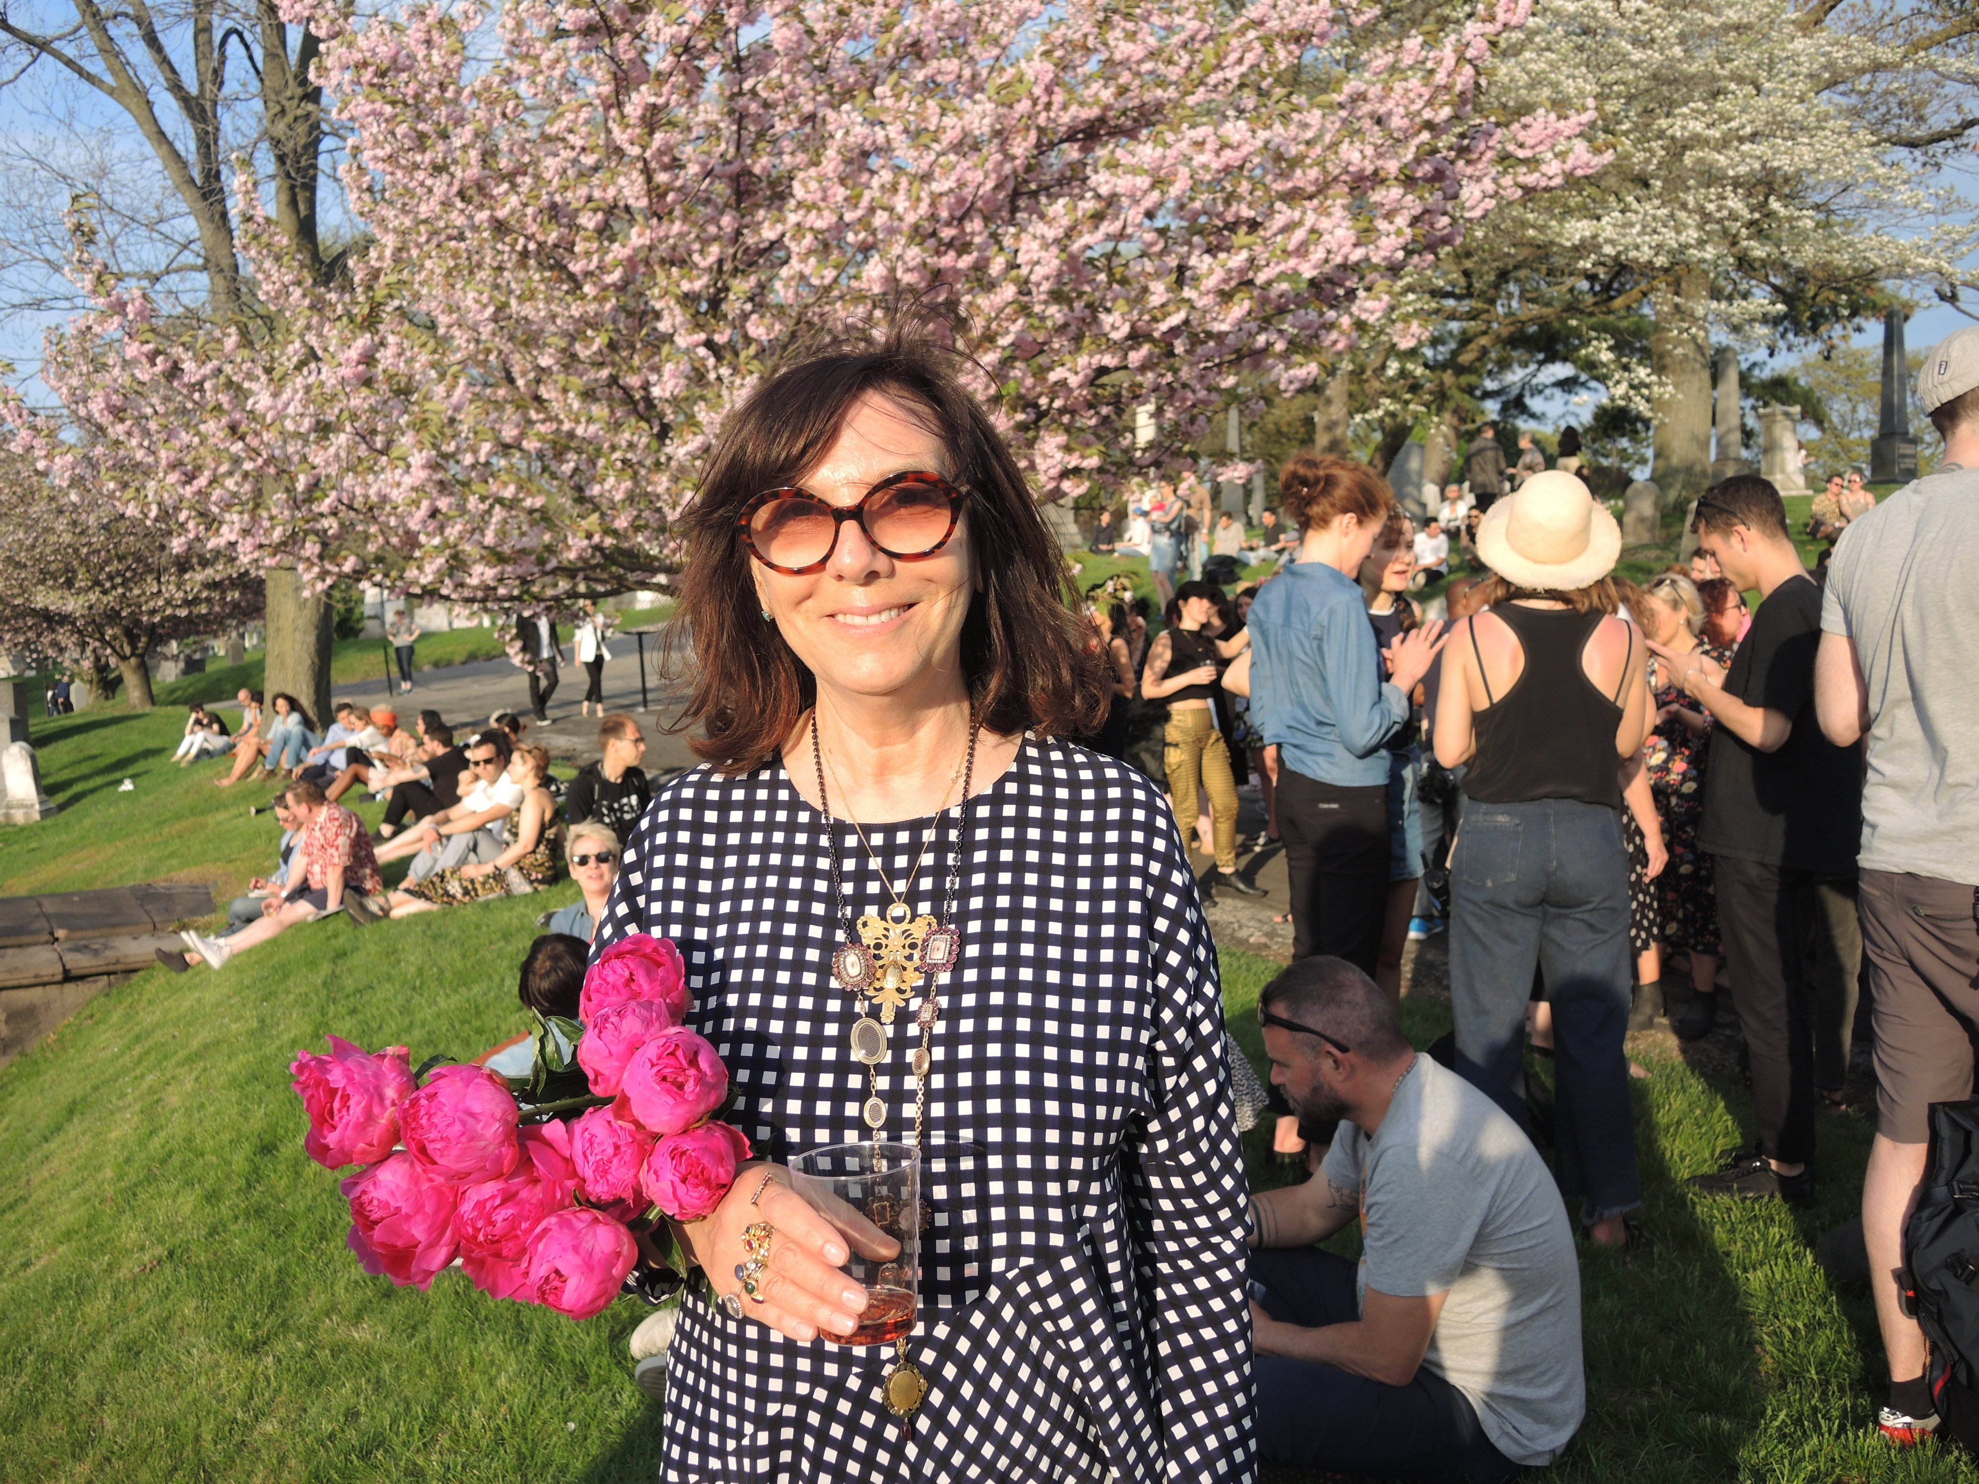
{"type": "MultiPolygon", "coordinates": [[[[1227,623],[1219,586],[1174,588],[1138,667],[1124,594],[1092,594],[1116,718],[1166,704],[1158,778],[1213,857],[1203,888],[1251,894],[1282,841],[1294,970],[1265,991],[1274,1148],[1316,1173],[1253,1203],[1272,1249],[1253,1264],[1267,1456],[1486,1478],[1571,1437],[1577,1294],[1542,1292],[1571,1270],[1561,1197],[1591,1243],[1647,1239],[1625,1035],[1668,1017],[1696,1041],[1726,999],[1757,1138],[1690,1181],[1704,1197],[1811,1203],[1819,1112],[1848,1106],[1852,1043],[1874,1039],[1878,1427],[1898,1444],[1937,1427],[1898,1276],[1926,1108],[1973,1094],[1979,795],[1959,766],[1973,702],[1955,667],[1979,623],[1928,594],[1953,592],[1953,564],[1979,552],[1979,332],[1932,362],[1932,477],[1878,507],[1858,469],[1837,473],[1797,530],[1769,481],[1724,479],[1696,501],[1694,552],[1643,582],[1617,572],[1621,532],[1577,477],[1577,437],[1548,467],[1530,435],[1508,461],[1482,427],[1421,528],[1371,469],[1294,457],[1269,522],[1271,554],[1290,560],[1227,623]],[[1825,542],[1813,566],[1795,536],[1825,542]],[[1269,778],[1249,863],[1233,851],[1239,730],[1269,778]],[[1383,1007],[1401,944],[1445,930],[1455,1035],[1425,1074],[1383,1007]],[[1534,1053],[1554,1067],[1544,1120],[1534,1053]],[[1385,1130],[1411,1082],[1455,1100],[1425,1128],[1411,1098],[1397,1154],[1385,1130]],[[1482,1219],[1451,1223],[1468,1251],[1437,1249],[1445,1209],[1470,1199],[1482,1219]],[[1356,1215],[1358,1306],[1352,1268],[1310,1251],[1356,1215]],[[1447,1330],[1472,1264],[1498,1274],[1496,1326],[1530,1316],[1516,1332],[1486,1342],[1470,1314],[1461,1338],[1447,1330]],[[1425,1294],[1443,1294],[1441,1320],[1425,1294]],[[1514,1363],[1466,1387],[1470,1344],[1514,1363]],[[1532,1393],[1528,1365],[1550,1373],[1532,1393]],[[1520,1397],[1557,1411],[1522,1413],[1520,1397]]],[[[1168,499],[1136,507],[1130,532],[1168,499]]],[[[1265,556],[1221,528],[1217,542],[1265,556]]],[[[1094,746],[1146,766],[1128,734],[1116,720],[1094,746]]]]}

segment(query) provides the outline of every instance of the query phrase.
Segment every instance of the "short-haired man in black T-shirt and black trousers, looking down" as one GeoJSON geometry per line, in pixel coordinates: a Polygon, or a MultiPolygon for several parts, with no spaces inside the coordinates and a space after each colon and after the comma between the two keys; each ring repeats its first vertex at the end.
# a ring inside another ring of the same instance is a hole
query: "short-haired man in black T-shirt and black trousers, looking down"
{"type": "Polygon", "coordinates": [[[1698,845],[1712,857],[1718,928],[1732,995],[1751,1055],[1759,1148],[1692,1181],[1710,1195],[1815,1199],[1817,934],[1852,983],[1862,960],[1854,926],[1862,760],[1815,720],[1821,588],[1787,534],[1787,507],[1765,479],[1736,475],[1704,491],[1692,516],[1698,550],[1759,609],[1732,659],[1650,645],[1676,685],[1716,720],[1698,845]]]}

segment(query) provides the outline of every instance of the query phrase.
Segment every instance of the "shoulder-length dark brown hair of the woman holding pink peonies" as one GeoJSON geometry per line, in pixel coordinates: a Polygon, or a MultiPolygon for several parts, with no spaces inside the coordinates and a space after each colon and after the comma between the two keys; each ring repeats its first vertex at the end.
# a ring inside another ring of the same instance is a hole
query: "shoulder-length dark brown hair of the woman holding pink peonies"
{"type": "Polygon", "coordinates": [[[760,491],[800,481],[831,447],[853,404],[883,392],[924,416],[948,451],[942,473],[966,493],[962,520],[980,590],[962,623],[962,673],[991,732],[1090,736],[1106,716],[1106,673],[1059,542],[1023,471],[942,348],[932,315],[902,317],[875,340],[851,330],[811,342],[722,423],[681,516],[687,568],[669,625],[669,669],[697,665],[693,695],[667,726],[701,724],[691,746],[738,774],[774,756],[817,698],[817,681],[762,619],[754,560],[736,534],[760,491]]]}

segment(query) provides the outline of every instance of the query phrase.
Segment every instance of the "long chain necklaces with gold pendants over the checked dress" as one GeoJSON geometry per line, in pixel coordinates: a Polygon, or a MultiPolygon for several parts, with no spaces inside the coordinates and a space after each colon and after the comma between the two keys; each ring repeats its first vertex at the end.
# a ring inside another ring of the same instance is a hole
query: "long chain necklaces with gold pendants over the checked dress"
{"type": "MultiPolygon", "coordinates": [[[[920,985],[924,975],[942,975],[956,966],[962,954],[962,936],[956,932],[956,894],[962,888],[962,855],[966,851],[968,827],[970,827],[970,786],[976,782],[976,740],[982,736],[980,722],[970,718],[970,748],[962,758],[962,799],[956,805],[956,845],[948,861],[948,888],[942,894],[942,916],[914,916],[912,908],[900,898],[900,892],[893,888],[893,881],[887,877],[887,867],[881,865],[879,851],[873,849],[873,841],[867,839],[865,829],[853,819],[853,829],[859,831],[859,843],[865,845],[867,855],[873,857],[873,867],[879,871],[879,879],[887,884],[887,894],[893,896],[893,904],[887,908],[887,916],[879,918],[867,912],[859,918],[857,942],[853,940],[853,920],[851,912],[845,908],[845,873],[839,863],[839,833],[831,819],[831,795],[825,791],[825,750],[817,736],[817,712],[811,712],[811,762],[817,768],[817,807],[825,815],[825,849],[831,861],[831,896],[839,912],[839,926],[845,928],[845,946],[831,956],[831,977],[839,981],[853,995],[853,1007],[859,1019],[853,1021],[851,1049],[853,1057],[865,1063],[867,1068],[867,1102],[861,1110],[861,1118],[869,1130],[873,1130],[873,1142],[879,1142],[881,1130],[887,1126],[887,1102],[879,1096],[879,1065],[887,1061],[887,1027],[893,1025],[893,1015],[896,1009],[906,1005],[914,989],[920,985]],[[879,1019],[875,1021],[867,1015],[867,997],[879,1003],[879,1019]]],[[[956,786],[954,776],[948,780],[948,788],[956,786]]],[[[914,871],[906,879],[906,888],[914,890],[914,879],[920,875],[920,863],[928,859],[928,851],[934,847],[936,837],[942,833],[942,819],[948,813],[948,791],[942,791],[942,807],[936,809],[934,825],[928,829],[928,841],[920,847],[920,857],[914,861],[914,871]]],[[[851,817],[851,815],[847,815],[851,817]]],[[[928,1112],[928,1072],[934,1067],[934,1053],[930,1043],[934,1039],[934,1023],[940,1019],[942,1007],[934,993],[934,985],[920,997],[920,1009],[914,1011],[914,1025],[920,1029],[920,1045],[914,1047],[908,1065],[914,1072],[914,1134],[912,1148],[920,1148],[920,1132],[928,1112]]],[[[922,1201],[920,1211],[912,1215],[922,1231],[928,1229],[928,1207],[922,1201]]],[[[881,1377],[881,1395],[887,1401],[887,1411],[900,1419],[902,1433],[912,1427],[914,1413],[928,1395],[928,1377],[920,1373],[920,1367],[906,1357],[906,1336],[895,1342],[893,1367],[881,1377]]]]}

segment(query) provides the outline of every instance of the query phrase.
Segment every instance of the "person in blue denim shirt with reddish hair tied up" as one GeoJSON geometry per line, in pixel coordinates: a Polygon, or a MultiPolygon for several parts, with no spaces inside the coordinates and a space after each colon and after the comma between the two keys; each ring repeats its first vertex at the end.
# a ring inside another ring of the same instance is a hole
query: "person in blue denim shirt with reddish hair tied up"
{"type": "Polygon", "coordinates": [[[1443,649],[1425,623],[1383,657],[1356,574],[1393,507],[1366,465],[1300,453],[1278,507],[1298,560],[1251,605],[1251,716],[1278,754],[1278,833],[1292,888],[1292,958],[1375,972],[1387,904],[1387,740],[1443,649]],[[1385,673],[1383,673],[1385,671],[1385,673]]]}

